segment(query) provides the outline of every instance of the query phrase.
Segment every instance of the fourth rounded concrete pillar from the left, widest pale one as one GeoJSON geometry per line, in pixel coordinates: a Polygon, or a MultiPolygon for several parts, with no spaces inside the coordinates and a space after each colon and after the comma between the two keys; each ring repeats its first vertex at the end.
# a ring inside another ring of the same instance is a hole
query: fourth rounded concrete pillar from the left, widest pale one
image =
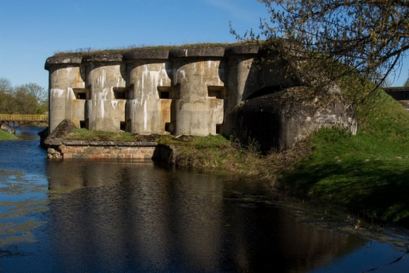
{"type": "Polygon", "coordinates": [[[173,59],[173,134],[207,136],[222,131],[223,47],[170,50],[173,59]]]}

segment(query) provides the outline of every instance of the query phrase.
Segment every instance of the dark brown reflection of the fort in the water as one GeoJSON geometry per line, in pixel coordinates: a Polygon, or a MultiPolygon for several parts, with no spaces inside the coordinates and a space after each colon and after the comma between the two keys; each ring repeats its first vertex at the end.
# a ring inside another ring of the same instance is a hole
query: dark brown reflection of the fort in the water
{"type": "Polygon", "coordinates": [[[49,205],[66,269],[92,258],[116,268],[131,260],[158,269],[303,272],[359,243],[284,209],[239,205],[229,193],[240,182],[219,176],[109,161],[50,161],[48,176],[50,190],[70,190],[49,205]]]}

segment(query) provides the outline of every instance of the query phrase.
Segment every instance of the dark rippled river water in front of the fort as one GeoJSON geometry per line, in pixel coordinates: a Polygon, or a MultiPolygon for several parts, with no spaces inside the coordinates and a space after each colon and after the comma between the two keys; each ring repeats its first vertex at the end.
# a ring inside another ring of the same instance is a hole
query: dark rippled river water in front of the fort
{"type": "Polygon", "coordinates": [[[369,240],[249,179],[48,160],[39,131],[0,141],[0,272],[409,271],[405,235],[369,240]]]}

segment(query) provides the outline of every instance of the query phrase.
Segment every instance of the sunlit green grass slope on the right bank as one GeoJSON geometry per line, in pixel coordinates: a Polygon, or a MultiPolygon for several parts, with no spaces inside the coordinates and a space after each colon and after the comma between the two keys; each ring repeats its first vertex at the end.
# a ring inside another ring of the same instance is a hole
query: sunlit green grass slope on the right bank
{"type": "Polygon", "coordinates": [[[409,112],[378,92],[355,136],[322,129],[282,183],[313,200],[409,225],[409,112]]]}

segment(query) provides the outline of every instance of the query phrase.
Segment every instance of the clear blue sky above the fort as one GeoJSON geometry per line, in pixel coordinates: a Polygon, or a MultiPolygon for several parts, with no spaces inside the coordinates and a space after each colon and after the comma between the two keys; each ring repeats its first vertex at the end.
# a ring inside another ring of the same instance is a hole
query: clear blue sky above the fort
{"type": "MultiPolygon", "coordinates": [[[[0,3],[0,77],[48,88],[45,60],[59,51],[133,45],[233,43],[257,29],[256,0],[13,0],[0,3]]],[[[405,64],[393,85],[408,77],[405,64]]]]}

